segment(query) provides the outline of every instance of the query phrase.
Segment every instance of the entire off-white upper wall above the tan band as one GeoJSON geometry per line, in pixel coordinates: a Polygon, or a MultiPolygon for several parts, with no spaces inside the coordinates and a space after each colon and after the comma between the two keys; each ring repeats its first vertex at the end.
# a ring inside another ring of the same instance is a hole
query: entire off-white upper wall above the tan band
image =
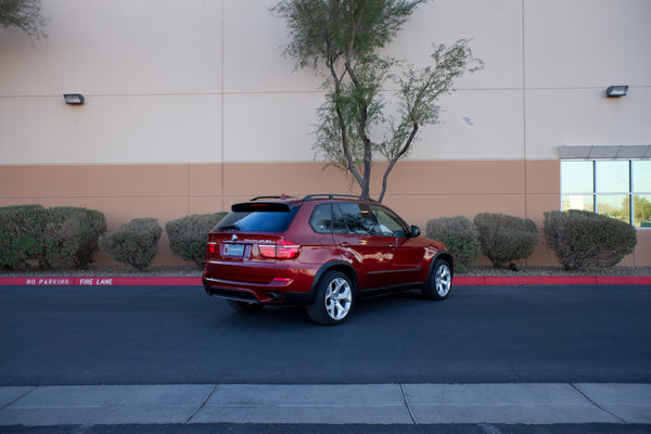
{"type": "MultiPolygon", "coordinates": [[[[42,0],[47,40],[0,30],[0,164],[312,161],[321,78],[280,55],[272,0],[42,0]],[[62,94],[82,93],[84,106],[62,94]]],[[[556,158],[651,142],[651,1],[435,0],[387,52],[471,38],[483,71],[413,159],[556,158]],[[629,94],[607,99],[611,85],[629,94]]]]}

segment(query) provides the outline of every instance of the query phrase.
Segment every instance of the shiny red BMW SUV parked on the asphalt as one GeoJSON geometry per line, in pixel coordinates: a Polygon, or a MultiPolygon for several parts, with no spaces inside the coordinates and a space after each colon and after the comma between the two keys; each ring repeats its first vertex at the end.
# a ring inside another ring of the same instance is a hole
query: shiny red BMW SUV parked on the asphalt
{"type": "Polygon", "coordinates": [[[339,194],[260,196],[232,206],[208,235],[206,293],[238,311],[301,304],[336,324],[357,299],[420,288],[447,297],[452,257],[393,210],[339,194]]]}

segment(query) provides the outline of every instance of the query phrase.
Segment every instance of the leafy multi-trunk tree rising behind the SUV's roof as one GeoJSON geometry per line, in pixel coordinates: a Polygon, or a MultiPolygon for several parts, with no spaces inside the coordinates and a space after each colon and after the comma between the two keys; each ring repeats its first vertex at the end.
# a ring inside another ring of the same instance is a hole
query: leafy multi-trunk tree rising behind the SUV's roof
{"type": "Polygon", "coordinates": [[[450,47],[434,44],[432,64],[422,69],[381,54],[424,1],[282,0],[271,9],[289,26],[291,41],[284,54],[297,68],[327,73],[315,150],[349,171],[365,199],[370,194],[373,155],[388,162],[382,201],[388,174],[409,153],[419,129],[438,123],[438,97],[450,93],[455,79],[467,71],[483,65],[467,39],[450,47]],[[399,102],[397,113],[390,115],[384,90],[392,81],[399,102]]]}

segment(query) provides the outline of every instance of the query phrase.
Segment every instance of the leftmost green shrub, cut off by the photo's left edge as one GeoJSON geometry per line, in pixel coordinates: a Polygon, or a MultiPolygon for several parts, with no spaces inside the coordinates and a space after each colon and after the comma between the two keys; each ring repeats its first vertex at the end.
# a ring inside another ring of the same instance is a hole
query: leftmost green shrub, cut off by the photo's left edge
{"type": "Polygon", "coordinates": [[[0,208],[0,268],[16,269],[39,258],[44,218],[40,205],[0,208]]]}

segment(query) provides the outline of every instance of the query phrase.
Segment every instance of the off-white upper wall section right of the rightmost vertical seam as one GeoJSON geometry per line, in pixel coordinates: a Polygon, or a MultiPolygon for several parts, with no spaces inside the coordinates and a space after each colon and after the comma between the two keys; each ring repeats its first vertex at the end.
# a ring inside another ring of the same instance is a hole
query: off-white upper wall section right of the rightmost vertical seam
{"type": "Polygon", "coordinates": [[[651,1],[525,1],[527,158],[651,143],[651,1]],[[605,98],[628,85],[623,98],[605,98]]]}

